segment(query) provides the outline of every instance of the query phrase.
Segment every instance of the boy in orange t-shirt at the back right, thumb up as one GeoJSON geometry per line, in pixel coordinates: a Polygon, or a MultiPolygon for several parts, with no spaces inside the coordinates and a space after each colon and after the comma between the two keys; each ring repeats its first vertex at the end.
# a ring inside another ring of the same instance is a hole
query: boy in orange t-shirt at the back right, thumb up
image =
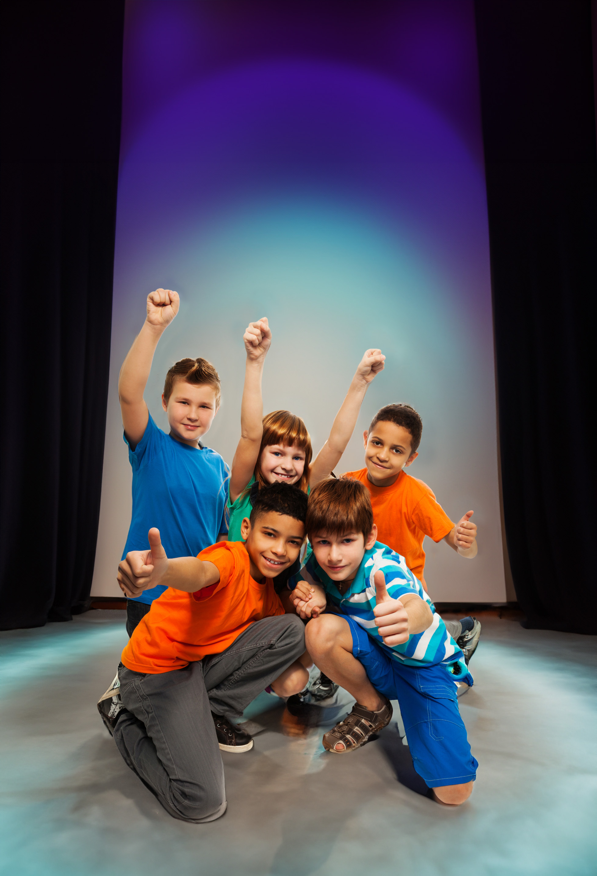
{"type": "MultiPolygon", "coordinates": [[[[378,540],[397,554],[423,584],[425,590],[425,535],[435,542],[446,541],[460,556],[472,559],[477,554],[477,527],[467,511],[457,524],[447,516],[430,487],[407,469],[418,456],[423,422],[410,405],[386,405],[375,415],[363,433],[365,468],[347,471],[369,490],[378,540]]],[[[446,621],[468,662],[479,641],[481,624],[474,618],[446,621]]]]}

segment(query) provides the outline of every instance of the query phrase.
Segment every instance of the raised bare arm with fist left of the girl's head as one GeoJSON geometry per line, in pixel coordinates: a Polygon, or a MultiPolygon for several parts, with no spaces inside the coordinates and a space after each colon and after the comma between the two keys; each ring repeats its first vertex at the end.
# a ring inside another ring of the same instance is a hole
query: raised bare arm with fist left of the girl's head
{"type": "Polygon", "coordinates": [[[241,440],[232,460],[230,501],[234,502],[249,484],[259,456],[263,435],[263,398],[261,378],[265,355],[270,349],[271,332],[267,317],[249,322],[242,336],[247,350],[241,403],[241,440]]]}

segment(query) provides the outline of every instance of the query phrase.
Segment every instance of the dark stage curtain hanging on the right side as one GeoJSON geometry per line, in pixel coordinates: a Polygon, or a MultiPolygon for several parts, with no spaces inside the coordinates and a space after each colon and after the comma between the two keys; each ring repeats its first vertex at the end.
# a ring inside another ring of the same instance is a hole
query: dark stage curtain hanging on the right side
{"type": "Polygon", "coordinates": [[[526,625],[597,632],[588,0],[477,0],[502,489],[526,625]]]}

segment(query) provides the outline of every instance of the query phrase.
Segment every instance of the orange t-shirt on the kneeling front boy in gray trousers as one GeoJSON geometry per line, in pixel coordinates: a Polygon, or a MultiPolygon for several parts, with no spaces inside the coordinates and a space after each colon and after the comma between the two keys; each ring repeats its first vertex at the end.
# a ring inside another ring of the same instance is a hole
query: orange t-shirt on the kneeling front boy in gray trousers
{"type": "Polygon", "coordinates": [[[249,574],[242,541],[218,541],[199,554],[220,569],[220,581],[196,593],[169,587],[151,603],[123,650],[123,664],[156,674],[224,651],[256,620],[284,614],[271,578],[249,574]]]}

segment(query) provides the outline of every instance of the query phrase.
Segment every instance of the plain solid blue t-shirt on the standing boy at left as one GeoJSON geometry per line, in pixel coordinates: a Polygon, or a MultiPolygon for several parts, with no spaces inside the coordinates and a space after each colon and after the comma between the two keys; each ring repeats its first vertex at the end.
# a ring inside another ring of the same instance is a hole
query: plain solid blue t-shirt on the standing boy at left
{"type": "MultiPolygon", "coordinates": [[[[149,548],[151,526],[158,527],[169,557],[196,556],[228,533],[228,467],[215,450],[171,438],[150,414],[143,438],[134,450],[129,447],[129,462],[133,509],[123,559],[130,550],[149,548]]],[[[151,604],[165,589],[159,584],[144,590],[137,602],[151,604]]]]}

